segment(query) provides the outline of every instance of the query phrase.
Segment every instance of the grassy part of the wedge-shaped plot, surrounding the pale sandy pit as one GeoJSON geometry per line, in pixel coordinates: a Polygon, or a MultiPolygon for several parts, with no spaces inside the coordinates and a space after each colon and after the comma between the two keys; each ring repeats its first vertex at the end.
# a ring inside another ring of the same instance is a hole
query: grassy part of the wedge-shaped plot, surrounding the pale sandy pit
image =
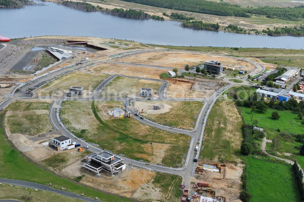
{"type": "MultiPolygon", "coordinates": [[[[172,108],[162,114],[141,114],[143,117],[161,125],[188,130],[194,129],[198,115],[204,105],[200,101],[145,101],[145,103],[147,105],[168,104],[172,108]]],[[[136,102],[134,107],[137,107],[136,102]]]]}

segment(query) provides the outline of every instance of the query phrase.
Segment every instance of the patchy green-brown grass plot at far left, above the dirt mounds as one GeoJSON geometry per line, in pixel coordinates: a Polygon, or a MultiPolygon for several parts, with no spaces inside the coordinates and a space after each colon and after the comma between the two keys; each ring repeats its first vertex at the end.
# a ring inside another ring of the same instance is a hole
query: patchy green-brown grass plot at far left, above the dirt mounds
{"type": "Polygon", "coordinates": [[[49,132],[49,106],[49,102],[15,101],[5,109],[5,124],[11,133],[34,136],[49,132]]]}

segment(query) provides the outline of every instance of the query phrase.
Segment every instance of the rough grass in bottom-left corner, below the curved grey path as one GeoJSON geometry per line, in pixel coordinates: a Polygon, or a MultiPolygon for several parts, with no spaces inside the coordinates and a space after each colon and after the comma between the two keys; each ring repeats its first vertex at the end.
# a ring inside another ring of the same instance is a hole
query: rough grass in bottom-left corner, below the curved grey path
{"type": "Polygon", "coordinates": [[[15,199],[20,201],[33,201],[33,202],[54,202],[54,198],[58,201],[74,202],[75,199],[65,197],[60,194],[56,194],[50,191],[34,191],[32,188],[27,190],[22,189],[23,187],[9,187],[9,184],[2,184],[0,187],[0,200],[1,199],[15,199]],[[29,198],[29,192],[31,197],[29,198]],[[24,197],[25,196],[25,197],[24,197]]]}

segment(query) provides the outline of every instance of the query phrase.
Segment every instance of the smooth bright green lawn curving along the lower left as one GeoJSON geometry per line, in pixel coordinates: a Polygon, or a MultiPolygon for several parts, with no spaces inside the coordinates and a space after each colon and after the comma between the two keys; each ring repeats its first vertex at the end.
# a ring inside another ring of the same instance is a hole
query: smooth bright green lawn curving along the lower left
{"type": "Polygon", "coordinates": [[[51,187],[55,189],[66,187],[66,191],[84,193],[86,197],[98,197],[107,202],[131,201],[128,198],[108,195],[93,190],[91,187],[75,184],[69,179],[54,175],[53,173],[47,172],[43,167],[37,166],[28,158],[22,156],[21,152],[12,148],[12,145],[8,142],[4,135],[5,130],[3,126],[3,115],[0,118],[2,120],[0,130],[0,177],[25,180],[40,184],[52,183],[51,187]]]}

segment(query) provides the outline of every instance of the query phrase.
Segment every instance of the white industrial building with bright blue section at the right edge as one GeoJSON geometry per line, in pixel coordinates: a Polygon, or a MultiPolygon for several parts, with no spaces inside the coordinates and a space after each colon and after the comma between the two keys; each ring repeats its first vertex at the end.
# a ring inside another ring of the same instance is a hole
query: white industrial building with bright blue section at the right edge
{"type": "Polygon", "coordinates": [[[271,87],[264,87],[262,89],[257,89],[257,94],[263,96],[265,98],[273,98],[279,101],[287,102],[290,98],[294,98],[298,101],[304,100],[304,94],[293,92],[291,90],[286,89],[278,89],[271,87]]]}

